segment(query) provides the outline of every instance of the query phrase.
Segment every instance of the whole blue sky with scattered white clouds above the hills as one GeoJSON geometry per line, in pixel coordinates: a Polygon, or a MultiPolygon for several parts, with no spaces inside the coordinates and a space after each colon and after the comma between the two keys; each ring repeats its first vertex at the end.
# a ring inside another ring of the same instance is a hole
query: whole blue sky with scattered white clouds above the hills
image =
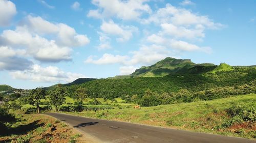
{"type": "Polygon", "coordinates": [[[256,65],[256,1],[0,0],[0,84],[131,74],[172,57],[256,65]]]}

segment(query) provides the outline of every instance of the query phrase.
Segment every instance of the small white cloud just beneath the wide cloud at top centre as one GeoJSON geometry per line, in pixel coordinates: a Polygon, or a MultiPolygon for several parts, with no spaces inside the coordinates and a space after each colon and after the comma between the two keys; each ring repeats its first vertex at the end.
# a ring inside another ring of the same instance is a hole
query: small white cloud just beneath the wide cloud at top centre
{"type": "Polygon", "coordinates": [[[119,26],[114,23],[113,20],[110,20],[109,22],[103,21],[100,29],[105,34],[119,36],[119,38],[116,39],[119,42],[129,40],[133,36],[133,32],[138,31],[138,28],[135,26],[119,26]]]}

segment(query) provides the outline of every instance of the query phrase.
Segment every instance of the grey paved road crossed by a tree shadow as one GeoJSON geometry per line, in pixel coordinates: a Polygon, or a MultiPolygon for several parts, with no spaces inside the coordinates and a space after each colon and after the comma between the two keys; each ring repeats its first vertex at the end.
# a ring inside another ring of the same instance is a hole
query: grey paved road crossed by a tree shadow
{"type": "Polygon", "coordinates": [[[190,131],[152,127],[125,122],[83,118],[62,113],[47,113],[47,115],[68,123],[74,128],[77,128],[78,130],[99,139],[100,142],[256,143],[255,140],[244,138],[195,133],[190,131]]]}

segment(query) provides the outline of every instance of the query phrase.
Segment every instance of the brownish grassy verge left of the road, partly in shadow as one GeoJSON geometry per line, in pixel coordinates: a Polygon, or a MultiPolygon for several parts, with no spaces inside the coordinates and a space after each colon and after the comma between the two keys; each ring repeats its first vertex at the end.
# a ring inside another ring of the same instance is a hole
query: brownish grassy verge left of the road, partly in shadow
{"type": "Polygon", "coordinates": [[[0,131],[0,142],[87,142],[71,128],[46,115],[22,115],[9,129],[0,131]]]}

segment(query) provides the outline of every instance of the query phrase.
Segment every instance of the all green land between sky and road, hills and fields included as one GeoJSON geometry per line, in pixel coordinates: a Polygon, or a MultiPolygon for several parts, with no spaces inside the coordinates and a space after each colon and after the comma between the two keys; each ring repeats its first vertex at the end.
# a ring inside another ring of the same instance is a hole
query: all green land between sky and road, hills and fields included
{"type": "Polygon", "coordinates": [[[10,129],[19,121],[9,111],[60,111],[255,138],[255,93],[255,66],[166,58],[131,75],[79,78],[48,88],[2,92],[0,100],[5,104],[0,106],[0,126],[10,129]],[[135,105],[142,109],[133,109],[135,105]]]}

